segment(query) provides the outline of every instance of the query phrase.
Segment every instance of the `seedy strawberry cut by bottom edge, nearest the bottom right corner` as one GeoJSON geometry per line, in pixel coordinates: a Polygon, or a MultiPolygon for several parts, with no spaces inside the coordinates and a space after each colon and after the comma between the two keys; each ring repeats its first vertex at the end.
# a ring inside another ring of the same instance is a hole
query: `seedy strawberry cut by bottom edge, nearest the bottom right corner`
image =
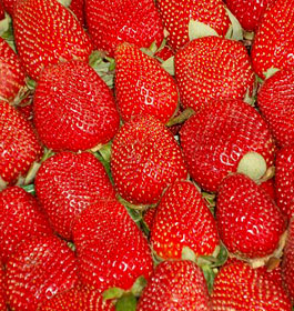
{"type": "Polygon", "coordinates": [[[242,261],[221,268],[212,293],[213,311],[291,311],[284,289],[242,261]]]}

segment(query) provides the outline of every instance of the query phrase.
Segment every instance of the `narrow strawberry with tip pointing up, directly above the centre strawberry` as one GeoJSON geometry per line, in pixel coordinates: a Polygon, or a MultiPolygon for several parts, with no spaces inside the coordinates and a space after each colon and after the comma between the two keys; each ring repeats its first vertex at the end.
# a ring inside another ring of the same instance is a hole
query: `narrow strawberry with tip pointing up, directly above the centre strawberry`
{"type": "Polygon", "coordinates": [[[152,114],[168,122],[178,106],[178,90],[160,62],[129,43],[116,48],[115,62],[116,101],[122,119],[152,114]]]}

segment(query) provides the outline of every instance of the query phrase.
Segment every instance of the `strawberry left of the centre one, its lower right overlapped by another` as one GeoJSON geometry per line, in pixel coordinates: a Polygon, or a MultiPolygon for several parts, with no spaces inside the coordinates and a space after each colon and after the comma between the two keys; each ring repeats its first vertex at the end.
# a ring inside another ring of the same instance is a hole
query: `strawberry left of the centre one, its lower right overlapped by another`
{"type": "Polygon", "coordinates": [[[105,169],[89,152],[60,152],[49,158],[34,184],[52,227],[65,239],[71,239],[73,222],[83,209],[115,195],[105,169]]]}

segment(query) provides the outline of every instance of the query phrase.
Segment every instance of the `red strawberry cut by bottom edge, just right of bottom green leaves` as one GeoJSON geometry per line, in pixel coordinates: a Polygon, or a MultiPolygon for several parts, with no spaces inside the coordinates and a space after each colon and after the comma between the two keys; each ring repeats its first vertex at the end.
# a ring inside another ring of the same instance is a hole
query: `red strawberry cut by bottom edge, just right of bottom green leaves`
{"type": "Polygon", "coordinates": [[[136,311],[212,311],[202,270],[191,261],[164,261],[143,290],[136,311]]]}

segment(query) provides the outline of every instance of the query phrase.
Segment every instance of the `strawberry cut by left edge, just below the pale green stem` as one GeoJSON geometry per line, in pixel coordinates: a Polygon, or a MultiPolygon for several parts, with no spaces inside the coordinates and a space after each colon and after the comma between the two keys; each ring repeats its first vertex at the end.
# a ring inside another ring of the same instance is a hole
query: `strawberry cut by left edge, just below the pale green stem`
{"type": "Polygon", "coordinates": [[[34,197],[19,187],[0,192],[0,259],[6,263],[18,244],[52,233],[34,197]]]}

